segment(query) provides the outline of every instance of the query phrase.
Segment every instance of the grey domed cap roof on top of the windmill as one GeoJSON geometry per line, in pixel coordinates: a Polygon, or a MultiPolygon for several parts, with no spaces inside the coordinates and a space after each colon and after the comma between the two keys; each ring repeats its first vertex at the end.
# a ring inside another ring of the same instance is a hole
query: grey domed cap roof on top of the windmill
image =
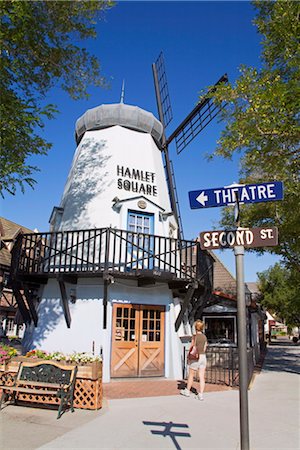
{"type": "Polygon", "coordinates": [[[80,142],[82,136],[88,130],[100,130],[113,125],[149,133],[158,142],[163,134],[161,122],[152,113],[137,106],[116,103],[88,109],[76,121],[76,141],[77,143],[80,142]]]}

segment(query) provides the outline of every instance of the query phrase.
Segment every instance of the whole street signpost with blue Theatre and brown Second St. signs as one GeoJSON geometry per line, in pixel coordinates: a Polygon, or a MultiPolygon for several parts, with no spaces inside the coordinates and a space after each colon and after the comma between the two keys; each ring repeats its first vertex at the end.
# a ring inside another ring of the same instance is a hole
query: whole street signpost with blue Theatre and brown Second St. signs
{"type": "Polygon", "coordinates": [[[241,228],[240,204],[270,202],[283,199],[283,183],[232,184],[221,188],[189,192],[192,209],[234,205],[235,230],[200,233],[202,250],[234,248],[236,264],[237,325],[239,355],[239,401],[241,450],[249,450],[247,320],[245,303],[245,247],[267,247],[278,244],[276,227],[241,228]]]}

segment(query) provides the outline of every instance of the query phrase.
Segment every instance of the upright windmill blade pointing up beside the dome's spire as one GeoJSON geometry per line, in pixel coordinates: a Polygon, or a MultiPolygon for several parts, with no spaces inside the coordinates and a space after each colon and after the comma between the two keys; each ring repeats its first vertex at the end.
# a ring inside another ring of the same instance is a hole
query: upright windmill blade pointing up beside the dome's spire
{"type": "Polygon", "coordinates": [[[152,64],[159,120],[166,128],[173,119],[163,53],[152,64]]]}

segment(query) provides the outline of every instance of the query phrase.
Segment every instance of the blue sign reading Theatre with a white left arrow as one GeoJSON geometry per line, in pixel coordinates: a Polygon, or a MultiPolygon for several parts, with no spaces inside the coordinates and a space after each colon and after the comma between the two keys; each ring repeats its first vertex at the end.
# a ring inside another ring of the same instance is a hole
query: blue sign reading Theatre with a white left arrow
{"type": "Polygon", "coordinates": [[[234,205],[236,194],[240,204],[271,202],[283,199],[283,183],[273,181],[260,184],[233,184],[214,189],[190,191],[192,209],[234,205]]]}

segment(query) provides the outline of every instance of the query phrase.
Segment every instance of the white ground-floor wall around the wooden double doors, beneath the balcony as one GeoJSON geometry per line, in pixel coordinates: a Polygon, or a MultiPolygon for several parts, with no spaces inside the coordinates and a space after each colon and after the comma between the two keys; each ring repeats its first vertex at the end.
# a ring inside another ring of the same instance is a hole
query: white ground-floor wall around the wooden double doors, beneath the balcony
{"type": "MultiPolygon", "coordinates": [[[[74,289],[74,285],[67,285],[74,289]]],[[[103,284],[101,280],[79,279],[77,300],[70,303],[71,327],[67,328],[63,314],[59,285],[49,280],[38,307],[38,327],[28,327],[24,337],[26,351],[39,348],[47,352],[91,352],[103,350],[103,381],[110,380],[111,329],[113,303],[133,303],[165,306],[165,376],[181,378],[182,346],[174,323],[176,319],[172,293],[167,285],[137,287],[134,282],[115,282],[108,289],[107,329],[103,329],[103,284]]]]}

